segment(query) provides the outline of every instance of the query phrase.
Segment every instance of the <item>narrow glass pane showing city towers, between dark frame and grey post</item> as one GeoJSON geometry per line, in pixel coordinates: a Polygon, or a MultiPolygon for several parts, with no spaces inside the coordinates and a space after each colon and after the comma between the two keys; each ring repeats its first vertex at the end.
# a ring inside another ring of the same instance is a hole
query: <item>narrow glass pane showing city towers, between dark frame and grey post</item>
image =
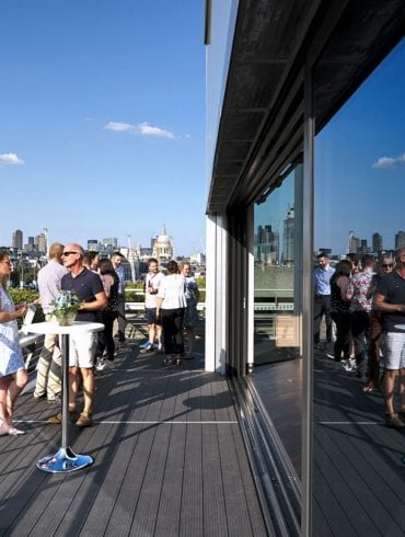
{"type": "Polygon", "coordinates": [[[301,467],[301,316],[297,171],[254,206],[254,384],[296,470],[301,467]]]}

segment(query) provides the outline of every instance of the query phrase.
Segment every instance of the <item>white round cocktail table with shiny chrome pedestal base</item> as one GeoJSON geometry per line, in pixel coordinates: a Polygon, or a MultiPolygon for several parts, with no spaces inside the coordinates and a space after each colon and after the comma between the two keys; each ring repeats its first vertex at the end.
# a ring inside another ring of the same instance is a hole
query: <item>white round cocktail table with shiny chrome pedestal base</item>
{"type": "Polygon", "coordinates": [[[74,321],[69,327],[61,327],[56,322],[36,322],[22,327],[24,333],[58,334],[60,335],[62,359],[62,439],[61,446],[55,455],[43,457],[36,464],[38,470],[56,472],[70,472],[80,470],[94,462],[90,455],[78,455],[69,447],[69,336],[82,332],[101,332],[104,324],[101,322],[74,321]]]}

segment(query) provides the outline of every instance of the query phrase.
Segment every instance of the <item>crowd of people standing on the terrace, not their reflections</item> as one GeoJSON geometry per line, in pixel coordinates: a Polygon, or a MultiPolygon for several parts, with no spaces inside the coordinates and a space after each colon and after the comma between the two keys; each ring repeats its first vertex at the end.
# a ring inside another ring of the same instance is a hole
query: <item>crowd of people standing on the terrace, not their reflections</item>
{"type": "MultiPolygon", "coordinates": [[[[80,427],[92,424],[94,399],[94,370],[111,368],[117,354],[114,324],[117,323],[118,349],[126,346],[125,277],[123,255],[114,252],[112,259],[100,259],[97,252],[84,252],[77,243],[54,243],[49,262],[37,276],[39,298],[45,320],[53,320],[54,300],[61,292],[73,292],[80,299],[76,320],[102,322],[101,332],[70,334],[69,344],[69,418],[80,427]],[[79,387],[83,391],[83,408],[78,412],[79,387]]],[[[18,319],[23,318],[27,305],[13,304],[8,293],[12,271],[9,252],[0,252],[0,435],[20,435],[12,421],[13,405],[27,382],[24,358],[20,345],[18,319]]],[[[181,364],[192,358],[194,328],[198,321],[198,286],[190,276],[190,265],[175,261],[167,264],[167,274],[159,271],[159,263],[150,259],[146,278],[146,320],[149,341],[141,351],[165,353],[164,364],[181,364]],[[184,332],[188,340],[185,353],[184,332]],[[162,341],[163,339],[163,341],[162,341]]],[[[46,334],[42,350],[33,397],[60,403],[61,353],[59,338],[46,334]]],[[[61,423],[61,412],[48,418],[61,423]]]]}

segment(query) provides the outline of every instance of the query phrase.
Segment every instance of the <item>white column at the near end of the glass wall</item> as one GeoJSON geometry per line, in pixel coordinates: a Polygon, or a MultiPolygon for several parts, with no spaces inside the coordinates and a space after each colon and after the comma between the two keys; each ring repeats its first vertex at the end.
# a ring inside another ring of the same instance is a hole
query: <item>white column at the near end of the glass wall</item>
{"type": "Polygon", "coordinates": [[[206,370],[225,374],[227,230],[223,217],[207,216],[206,370]]]}

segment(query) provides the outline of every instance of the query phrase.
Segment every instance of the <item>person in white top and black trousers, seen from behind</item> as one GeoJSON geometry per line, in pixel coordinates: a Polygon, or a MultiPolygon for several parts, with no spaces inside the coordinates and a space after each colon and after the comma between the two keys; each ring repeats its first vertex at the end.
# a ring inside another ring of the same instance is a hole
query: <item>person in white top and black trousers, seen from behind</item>
{"type": "Polygon", "coordinates": [[[175,261],[167,263],[167,276],[163,277],[157,299],[157,317],[162,313],[164,363],[182,363],[184,355],[184,312],[187,306],[185,278],[178,274],[175,261]]]}

